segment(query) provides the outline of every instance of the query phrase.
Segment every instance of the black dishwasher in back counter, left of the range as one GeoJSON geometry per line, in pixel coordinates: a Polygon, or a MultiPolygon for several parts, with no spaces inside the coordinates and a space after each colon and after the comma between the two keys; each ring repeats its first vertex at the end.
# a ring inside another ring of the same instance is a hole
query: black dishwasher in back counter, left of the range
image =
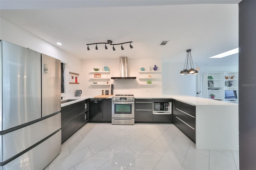
{"type": "Polygon", "coordinates": [[[102,115],[102,99],[90,99],[89,102],[89,121],[101,122],[102,115]]]}

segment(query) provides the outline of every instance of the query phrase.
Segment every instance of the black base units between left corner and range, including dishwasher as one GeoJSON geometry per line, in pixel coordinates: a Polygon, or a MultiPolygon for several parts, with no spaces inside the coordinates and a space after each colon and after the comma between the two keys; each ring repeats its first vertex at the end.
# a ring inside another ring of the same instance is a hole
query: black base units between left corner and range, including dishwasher
{"type": "Polygon", "coordinates": [[[90,122],[111,122],[111,99],[90,99],[89,121],[90,122]]]}

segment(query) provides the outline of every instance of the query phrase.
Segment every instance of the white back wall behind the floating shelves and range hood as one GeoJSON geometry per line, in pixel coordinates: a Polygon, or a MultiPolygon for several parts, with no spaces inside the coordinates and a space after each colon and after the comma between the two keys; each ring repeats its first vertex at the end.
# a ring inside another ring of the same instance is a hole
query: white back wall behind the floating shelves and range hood
{"type": "MultiPolygon", "coordinates": [[[[130,77],[137,77],[136,80],[112,80],[110,79],[110,84],[114,84],[114,95],[116,94],[133,94],[135,96],[157,96],[162,94],[162,75],[151,74],[154,77],[159,76],[160,81],[153,81],[152,85],[139,85],[139,77],[146,77],[148,74],[140,74],[140,68],[148,68],[148,66],[157,65],[162,70],[161,61],[158,59],[129,59],[128,64],[130,70],[130,77]],[[155,84],[155,85],[153,85],[155,84]]],[[[102,75],[110,77],[119,77],[120,76],[120,64],[119,58],[117,59],[85,59],[82,61],[82,72],[85,73],[85,76],[82,78],[82,91],[89,96],[101,95],[102,89],[109,89],[110,85],[90,85],[90,78],[93,78],[93,74],[89,74],[90,71],[93,71],[93,68],[100,68],[107,66],[110,68],[110,75],[102,75]]]]}

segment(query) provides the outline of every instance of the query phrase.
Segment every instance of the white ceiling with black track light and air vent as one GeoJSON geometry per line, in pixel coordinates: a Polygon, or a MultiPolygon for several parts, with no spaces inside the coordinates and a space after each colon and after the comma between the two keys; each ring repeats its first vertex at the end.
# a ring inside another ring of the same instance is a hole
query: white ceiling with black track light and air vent
{"type": "Polygon", "coordinates": [[[208,57],[238,47],[240,1],[2,0],[0,17],[53,45],[61,42],[62,46],[56,46],[81,59],[128,56],[184,62],[186,49],[192,49],[198,65],[237,65],[237,54],[222,59],[208,57]],[[116,45],[113,51],[112,46],[106,50],[99,44],[98,50],[95,45],[87,50],[86,43],[107,40],[132,41],[134,48],[124,44],[121,50],[116,45]],[[162,40],[170,42],[159,46],[162,40]]]}

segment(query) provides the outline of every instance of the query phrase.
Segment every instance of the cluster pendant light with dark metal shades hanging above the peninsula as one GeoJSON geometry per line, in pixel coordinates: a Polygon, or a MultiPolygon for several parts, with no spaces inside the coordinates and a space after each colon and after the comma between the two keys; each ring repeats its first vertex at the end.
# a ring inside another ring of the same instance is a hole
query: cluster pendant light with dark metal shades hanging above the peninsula
{"type": "Polygon", "coordinates": [[[187,49],[187,55],[186,55],[186,60],[184,63],[183,70],[180,71],[180,74],[182,75],[188,75],[188,74],[198,74],[198,71],[194,69],[194,63],[192,60],[192,55],[191,55],[191,49],[187,49]],[[188,69],[190,67],[190,69],[188,69]]]}

